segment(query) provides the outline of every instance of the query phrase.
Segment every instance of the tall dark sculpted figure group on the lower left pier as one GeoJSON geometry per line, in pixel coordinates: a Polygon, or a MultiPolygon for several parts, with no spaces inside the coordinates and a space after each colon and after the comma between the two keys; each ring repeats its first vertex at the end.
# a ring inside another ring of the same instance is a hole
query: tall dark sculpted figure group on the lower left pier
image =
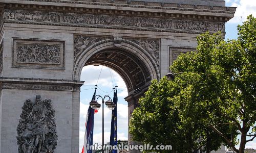
{"type": "Polygon", "coordinates": [[[17,125],[18,153],[54,152],[57,145],[55,110],[51,100],[27,99],[17,125]]]}

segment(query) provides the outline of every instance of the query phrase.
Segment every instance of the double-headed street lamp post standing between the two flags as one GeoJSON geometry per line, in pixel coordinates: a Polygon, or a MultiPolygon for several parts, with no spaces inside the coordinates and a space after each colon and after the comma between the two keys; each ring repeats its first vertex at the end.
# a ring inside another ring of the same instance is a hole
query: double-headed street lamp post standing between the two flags
{"type": "Polygon", "coordinates": [[[109,95],[105,95],[104,97],[100,95],[96,95],[95,99],[90,102],[90,107],[95,110],[99,110],[100,104],[97,102],[98,98],[102,99],[102,153],[104,153],[103,145],[104,145],[104,103],[106,107],[108,107],[111,111],[115,109],[116,104],[113,103],[111,97],[109,95]],[[104,101],[105,98],[109,98],[108,100],[104,101]]]}

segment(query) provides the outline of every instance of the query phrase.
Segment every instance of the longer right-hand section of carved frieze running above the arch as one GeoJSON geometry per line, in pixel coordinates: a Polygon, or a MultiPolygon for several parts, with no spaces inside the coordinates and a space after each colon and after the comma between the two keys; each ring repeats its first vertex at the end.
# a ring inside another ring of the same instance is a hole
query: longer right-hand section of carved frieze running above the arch
{"type": "Polygon", "coordinates": [[[181,29],[197,31],[224,31],[224,23],[207,21],[170,20],[142,17],[105,16],[91,14],[63,14],[63,22],[101,24],[127,27],[181,29]]]}

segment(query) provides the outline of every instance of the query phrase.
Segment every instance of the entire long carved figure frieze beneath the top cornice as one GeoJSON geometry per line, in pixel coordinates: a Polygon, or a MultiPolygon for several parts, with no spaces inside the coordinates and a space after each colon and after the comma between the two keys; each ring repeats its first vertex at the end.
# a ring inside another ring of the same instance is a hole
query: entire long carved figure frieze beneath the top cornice
{"type": "Polygon", "coordinates": [[[113,15],[5,10],[4,22],[178,33],[225,32],[225,23],[113,15]]]}

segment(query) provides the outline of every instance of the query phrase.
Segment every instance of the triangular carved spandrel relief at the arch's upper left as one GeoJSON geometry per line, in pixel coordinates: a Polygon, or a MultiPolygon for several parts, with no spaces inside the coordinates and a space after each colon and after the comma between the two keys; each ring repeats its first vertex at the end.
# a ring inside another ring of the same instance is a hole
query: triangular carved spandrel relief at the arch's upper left
{"type": "Polygon", "coordinates": [[[105,37],[94,37],[94,36],[75,36],[75,53],[74,62],[77,61],[79,55],[86,50],[92,44],[101,40],[107,39],[105,37]]]}

